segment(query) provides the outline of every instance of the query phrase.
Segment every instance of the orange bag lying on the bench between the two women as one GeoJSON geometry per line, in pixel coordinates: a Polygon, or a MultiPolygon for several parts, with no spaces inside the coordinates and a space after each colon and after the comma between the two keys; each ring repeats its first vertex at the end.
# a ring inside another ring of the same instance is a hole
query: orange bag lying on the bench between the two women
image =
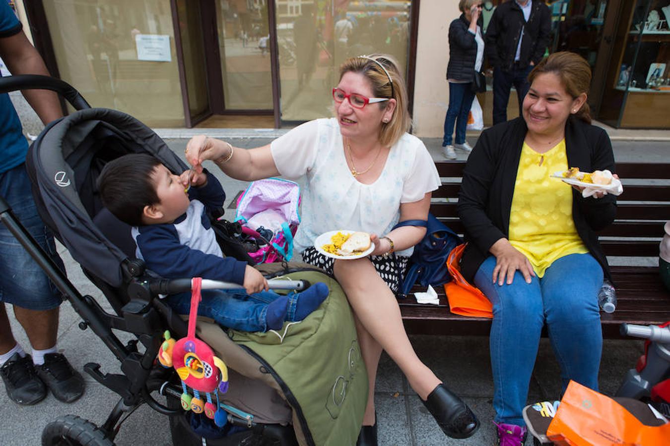
{"type": "Polygon", "coordinates": [[[464,279],[458,265],[465,250],[466,243],[458,245],[447,257],[447,269],[452,275],[452,281],[444,285],[449,308],[454,314],[473,316],[476,318],[493,318],[493,306],[486,299],[484,293],[464,279]]]}

